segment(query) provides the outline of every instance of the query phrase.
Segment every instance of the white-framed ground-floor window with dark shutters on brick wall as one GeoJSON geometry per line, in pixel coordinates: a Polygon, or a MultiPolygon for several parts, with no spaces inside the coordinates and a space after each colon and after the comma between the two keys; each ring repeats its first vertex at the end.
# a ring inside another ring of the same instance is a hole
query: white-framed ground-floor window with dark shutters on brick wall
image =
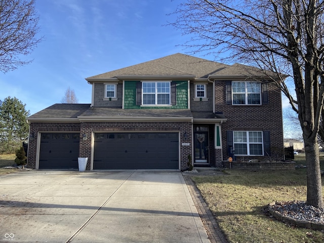
{"type": "Polygon", "coordinates": [[[263,155],[263,136],[260,131],[233,131],[236,155],[263,155]]]}

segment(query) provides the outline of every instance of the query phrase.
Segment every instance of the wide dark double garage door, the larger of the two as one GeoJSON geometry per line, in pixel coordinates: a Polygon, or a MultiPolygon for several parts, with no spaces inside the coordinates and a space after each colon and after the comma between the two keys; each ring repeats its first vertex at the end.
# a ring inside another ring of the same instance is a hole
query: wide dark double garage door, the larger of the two
{"type": "Polygon", "coordinates": [[[95,133],[93,169],[179,169],[179,134],[95,133]]]}

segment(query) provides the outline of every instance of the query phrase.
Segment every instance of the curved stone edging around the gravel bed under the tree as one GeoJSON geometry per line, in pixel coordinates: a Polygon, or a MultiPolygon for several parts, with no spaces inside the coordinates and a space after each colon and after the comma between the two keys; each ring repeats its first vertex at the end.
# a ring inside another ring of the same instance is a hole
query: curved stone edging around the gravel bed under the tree
{"type": "Polygon", "coordinates": [[[305,220],[296,220],[296,219],[284,216],[280,212],[273,210],[271,207],[273,205],[275,205],[275,202],[272,202],[271,204],[268,205],[269,213],[273,217],[275,217],[277,220],[285,221],[288,224],[297,225],[299,227],[304,227],[304,228],[324,229],[324,223],[305,221],[305,220]]]}

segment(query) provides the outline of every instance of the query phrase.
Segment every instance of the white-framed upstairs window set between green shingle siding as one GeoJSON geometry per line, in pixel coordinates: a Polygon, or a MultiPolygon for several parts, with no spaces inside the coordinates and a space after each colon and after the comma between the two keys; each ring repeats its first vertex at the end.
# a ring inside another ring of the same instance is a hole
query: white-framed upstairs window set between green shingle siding
{"type": "Polygon", "coordinates": [[[143,82],[143,105],[170,105],[170,82],[143,82]]]}

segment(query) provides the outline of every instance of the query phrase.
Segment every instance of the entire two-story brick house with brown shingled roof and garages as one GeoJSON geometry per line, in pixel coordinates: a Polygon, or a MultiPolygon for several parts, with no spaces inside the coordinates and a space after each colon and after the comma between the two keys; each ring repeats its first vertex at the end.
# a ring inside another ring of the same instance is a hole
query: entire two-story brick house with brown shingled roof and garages
{"type": "Polygon", "coordinates": [[[88,170],[222,167],[284,159],[281,93],[258,69],[174,54],[86,78],[91,104],[28,117],[28,166],[88,170]],[[258,82],[262,81],[262,83],[258,82]]]}

